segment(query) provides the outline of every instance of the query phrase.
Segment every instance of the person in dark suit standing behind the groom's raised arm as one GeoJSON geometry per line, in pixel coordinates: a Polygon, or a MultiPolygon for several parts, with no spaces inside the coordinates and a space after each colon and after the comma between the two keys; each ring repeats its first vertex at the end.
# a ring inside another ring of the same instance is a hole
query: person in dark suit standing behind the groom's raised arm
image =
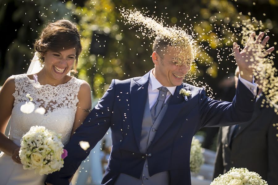
{"type": "MultiPolygon", "coordinates": [[[[236,86],[238,75],[237,68],[236,86]]],[[[278,115],[266,104],[261,106],[263,99],[265,96],[259,89],[250,121],[220,128],[213,178],[226,173],[231,167],[244,167],[261,175],[269,185],[278,184],[278,132],[273,127],[278,123],[278,115]]]]}

